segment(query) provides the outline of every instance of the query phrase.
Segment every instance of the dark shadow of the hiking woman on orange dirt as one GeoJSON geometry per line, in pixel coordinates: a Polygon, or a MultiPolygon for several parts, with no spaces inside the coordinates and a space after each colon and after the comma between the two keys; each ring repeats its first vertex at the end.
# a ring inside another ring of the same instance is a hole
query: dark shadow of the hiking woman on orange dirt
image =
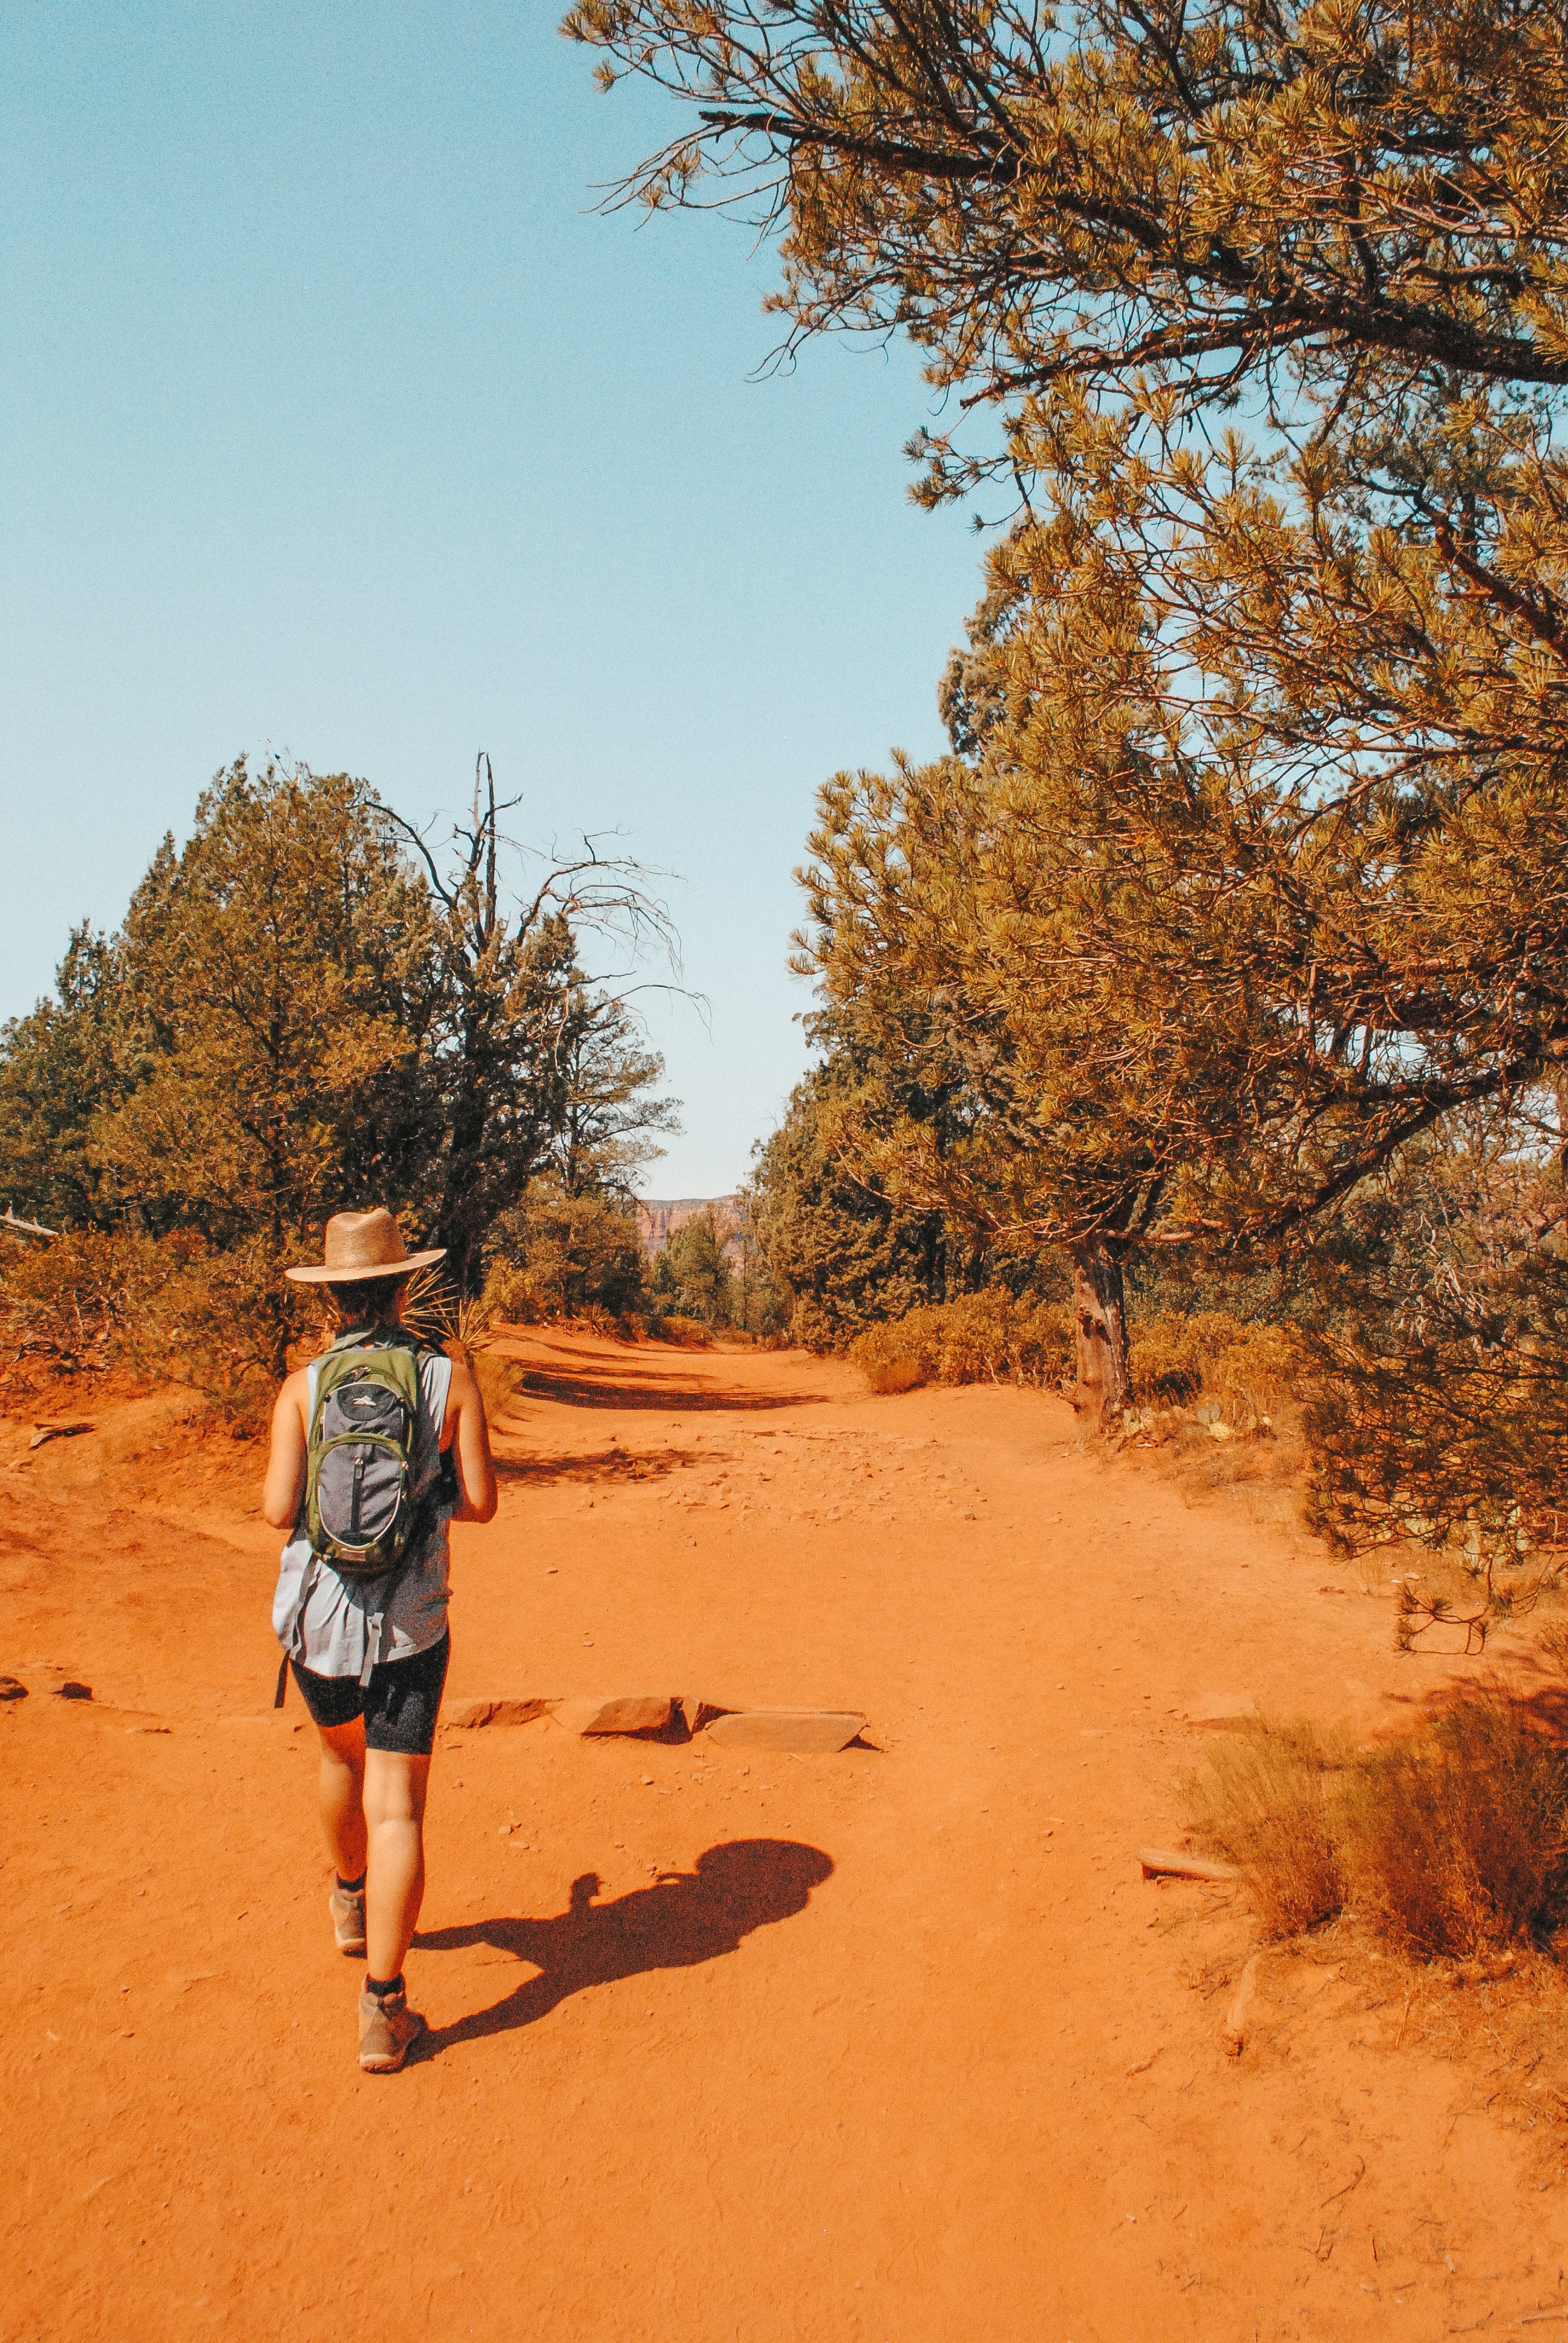
{"type": "Polygon", "coordinates": [[[588,1985],[612,1985],[654,1968],[696,1968],[776,1919],[804,1912],[811,1888],[832,1872],[820,1846],[790,1839],[729,1839],[696,1858],[691,1872],[661,1872],[652,1886],[598,1905],[598,1872],[572,1881],[572,1900],[555,1919],[480,1919],[469,1928],[415,1935],[420,1952],[464,1952],[495,1945],[539,1970],[473,2017],[431,2027],[415,2055],[431,2057],[450,2043],[480,2041],[532,2027],[588,1985]]]}

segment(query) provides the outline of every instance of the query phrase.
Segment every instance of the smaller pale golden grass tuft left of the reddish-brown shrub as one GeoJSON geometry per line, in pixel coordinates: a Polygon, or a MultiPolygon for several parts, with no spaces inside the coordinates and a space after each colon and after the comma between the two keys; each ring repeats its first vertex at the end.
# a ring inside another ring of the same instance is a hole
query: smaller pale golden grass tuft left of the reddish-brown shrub
{"type": "Polygon", "coordinates": [[[1296,1935],[1345,1903],[1331,1769],[1343,1750],[1315,1724],[1247,1724],[1188,1783],[1193,1821],[1247,1881],[1263,1935],[1296,1935]]]}

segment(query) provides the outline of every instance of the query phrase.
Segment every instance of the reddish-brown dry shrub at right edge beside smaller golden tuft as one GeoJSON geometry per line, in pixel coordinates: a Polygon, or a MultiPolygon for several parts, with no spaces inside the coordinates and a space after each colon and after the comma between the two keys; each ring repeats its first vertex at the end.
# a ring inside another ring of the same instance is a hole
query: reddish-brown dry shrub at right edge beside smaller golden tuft
{"type": "Polygon", "coordinates": [[[1366,1750],[1341,1806],[1357,1898],[1427,1959],[1545,1942],[1568,1917],[1566,1823],[1568,1753],[1484,1692],[1366,1750]]]}

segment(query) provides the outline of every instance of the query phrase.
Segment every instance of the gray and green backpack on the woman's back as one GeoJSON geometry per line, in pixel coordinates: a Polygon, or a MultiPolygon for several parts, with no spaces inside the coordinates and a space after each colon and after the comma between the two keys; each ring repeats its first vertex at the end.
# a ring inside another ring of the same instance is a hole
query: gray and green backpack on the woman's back
{"type": "Polygon", "coordinates": [[[363,1326],[316,1361],[305,1450],[305,1530],[345,1579],[380,1579],[408,1551],[420,1418],[420,1345],[363,1326]]]}

